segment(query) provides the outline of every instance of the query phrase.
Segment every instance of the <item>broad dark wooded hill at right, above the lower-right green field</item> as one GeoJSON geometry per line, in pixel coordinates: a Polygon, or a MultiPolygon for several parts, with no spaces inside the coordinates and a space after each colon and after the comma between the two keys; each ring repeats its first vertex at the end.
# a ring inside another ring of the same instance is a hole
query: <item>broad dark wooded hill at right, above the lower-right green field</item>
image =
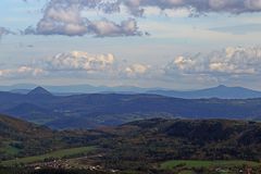
{"type": "Polygon", "coordinates": [[[119,154],[120,161],[261,159],[261,124],[256,122],[152,119],[121,125],[111,134],[108,157],[119,154]]]}

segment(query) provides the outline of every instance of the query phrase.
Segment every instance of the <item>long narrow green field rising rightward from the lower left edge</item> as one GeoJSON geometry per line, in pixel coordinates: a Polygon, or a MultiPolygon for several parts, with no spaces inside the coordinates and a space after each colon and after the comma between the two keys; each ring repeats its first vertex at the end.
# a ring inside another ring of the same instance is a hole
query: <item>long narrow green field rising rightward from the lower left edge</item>
{"type": "Polygon", "coordinates": [[[34,157],[26,157],[26,158],[21,158],[15,160],[2,161],[0,164],[4,166],[11,166],[20,163],[28,164],[28,163],[44,161],[45,159],[50,159],[50,158],[61,159],[61,158],[77,156],[82,153],[87,153],[87,152],[94,151],[95,149],[96,149],[95,147],[63,149],[63,150],[46,153],[42,156],[34,156],[34,157]]]}

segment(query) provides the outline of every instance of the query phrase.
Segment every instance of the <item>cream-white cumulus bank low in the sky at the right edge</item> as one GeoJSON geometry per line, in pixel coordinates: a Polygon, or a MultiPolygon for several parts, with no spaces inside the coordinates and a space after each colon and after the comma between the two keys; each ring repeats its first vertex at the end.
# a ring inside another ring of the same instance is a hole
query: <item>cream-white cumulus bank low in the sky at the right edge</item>
{"type": "Polygon", "coordinates": [[[165,66],[167,75],[240,77],[261,75],[261,48],[228,47],[209,54],[181,55],[165,66]]]}

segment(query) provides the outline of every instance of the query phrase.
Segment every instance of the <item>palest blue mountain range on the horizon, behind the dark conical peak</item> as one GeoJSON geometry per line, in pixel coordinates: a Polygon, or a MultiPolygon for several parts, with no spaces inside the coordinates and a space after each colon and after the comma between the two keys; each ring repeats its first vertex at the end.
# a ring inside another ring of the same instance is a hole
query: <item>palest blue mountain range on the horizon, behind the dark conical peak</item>
{"type": "MultiPolygon", "coordinates": [[[[36,88],[34,84],[21,84],[13,86],[0,86],[0,91],[11,91],[14,94],[28,94],[36,88]]],[[[166,97],[184,99],[220,98],[220,99],[248,99],[261,98],[261,91],[243,87],[227,87],[220,85],[217,87],[199,90],[171,90],[163,88],[140,88],[134,86],[91,86],[91,85],[72,85],[72,86],[44,86],[55,96],[70,96],[77,94],[152,94],[166,97]]]]}

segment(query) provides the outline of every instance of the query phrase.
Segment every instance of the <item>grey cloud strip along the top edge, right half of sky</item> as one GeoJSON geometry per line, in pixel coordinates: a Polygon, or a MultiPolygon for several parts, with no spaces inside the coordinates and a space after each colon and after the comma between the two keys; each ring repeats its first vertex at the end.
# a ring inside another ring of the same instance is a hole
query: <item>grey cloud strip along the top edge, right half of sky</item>
{"type": "Polygon", "coordinates": [[[191,15],[200,13],[249,13],[261,12],[261,0],[119,0],[133,15],[142,15],[145,8],[156,7],[161,10],[187,8],[191,15]]]}

